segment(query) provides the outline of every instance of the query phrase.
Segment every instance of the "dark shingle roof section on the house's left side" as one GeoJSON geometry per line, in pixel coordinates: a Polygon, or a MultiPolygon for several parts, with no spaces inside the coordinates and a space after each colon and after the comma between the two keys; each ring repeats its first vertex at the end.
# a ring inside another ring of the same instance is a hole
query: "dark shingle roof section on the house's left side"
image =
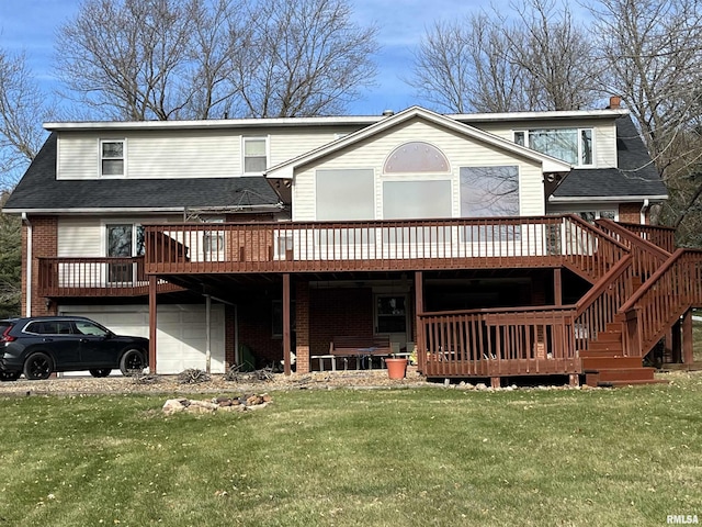
{"type": "Polygon", "coordinates": [[[8,199],[9,210],[233,208],[276,204],[263,177],[56,180],[53,133],[8,199]]]}

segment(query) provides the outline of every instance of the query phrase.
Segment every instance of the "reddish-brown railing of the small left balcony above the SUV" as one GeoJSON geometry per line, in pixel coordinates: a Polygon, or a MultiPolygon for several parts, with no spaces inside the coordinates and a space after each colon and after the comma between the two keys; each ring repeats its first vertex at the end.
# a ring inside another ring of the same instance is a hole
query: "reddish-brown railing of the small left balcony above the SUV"
{"type": "MultiPolygon", "coordinates": [[[[38,258],[41,296],[134,296],[148,294],[144,257],[38,258]]],[[[181,288],[159,280],[158,292],[181,288]]]]}

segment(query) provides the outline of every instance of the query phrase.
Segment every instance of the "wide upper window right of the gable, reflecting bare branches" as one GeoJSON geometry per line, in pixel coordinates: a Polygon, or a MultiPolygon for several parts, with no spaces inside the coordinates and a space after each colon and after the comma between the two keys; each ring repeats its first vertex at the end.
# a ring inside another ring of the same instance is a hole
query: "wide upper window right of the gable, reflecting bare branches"
{"type": "Polygon", "coordinates": [[[514,132],[514,143],[578,167],[593,165],[592,128],[535,128],[514,132]]]}

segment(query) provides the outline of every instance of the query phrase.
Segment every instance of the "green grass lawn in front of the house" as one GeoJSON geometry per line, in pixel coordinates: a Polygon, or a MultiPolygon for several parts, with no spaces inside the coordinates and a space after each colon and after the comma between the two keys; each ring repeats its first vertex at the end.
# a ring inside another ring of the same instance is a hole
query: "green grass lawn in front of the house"
{"type": "Polygon", "coordinates": [[[702,375],[671,375],[616,390],[287,391],[257,412],[170,417],[166,396],[7,397],[0,526],[702,518],[702,375]]]}

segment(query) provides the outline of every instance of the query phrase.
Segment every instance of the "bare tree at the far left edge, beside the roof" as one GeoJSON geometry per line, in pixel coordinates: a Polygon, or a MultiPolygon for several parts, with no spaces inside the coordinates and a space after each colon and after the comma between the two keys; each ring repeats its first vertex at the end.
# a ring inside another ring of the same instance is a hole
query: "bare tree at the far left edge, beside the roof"
{"type": "Polygon", "coordinates": [[[45,97],[24,55],[0,48],[0,191],[12,188],[38,153],[45,115],[45,97]]]}

